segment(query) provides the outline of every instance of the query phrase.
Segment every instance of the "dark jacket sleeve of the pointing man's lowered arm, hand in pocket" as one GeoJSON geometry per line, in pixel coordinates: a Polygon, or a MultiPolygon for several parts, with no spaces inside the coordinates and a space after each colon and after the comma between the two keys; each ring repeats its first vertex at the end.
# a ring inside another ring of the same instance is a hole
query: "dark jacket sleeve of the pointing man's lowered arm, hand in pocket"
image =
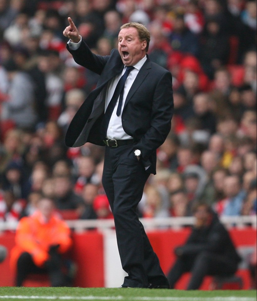
{"type": "Polygon", "coordinates": [[[167,71],[154,91],[150,127],[135,145],[142,152],[145,166],[149,165],[149,157],[163,144],[170,132],[173,108],[172,76],[167,71]]]}

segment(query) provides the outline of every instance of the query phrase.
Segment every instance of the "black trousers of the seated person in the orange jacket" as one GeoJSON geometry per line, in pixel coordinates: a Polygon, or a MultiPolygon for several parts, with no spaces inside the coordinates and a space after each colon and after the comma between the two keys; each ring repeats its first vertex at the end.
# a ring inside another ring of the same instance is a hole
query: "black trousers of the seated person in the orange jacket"
{"type": "Polygon", "coordinates": [[[17,262],[16,286],[22,286],[24,280],[29,274],[49,275],[52,287],[65,286],[64,274],[62,272],[62,259],[59,254],[54,254],[46,261],[44,267],[37,267],[32,260],[32,256],[24,252],[17,262]]]}

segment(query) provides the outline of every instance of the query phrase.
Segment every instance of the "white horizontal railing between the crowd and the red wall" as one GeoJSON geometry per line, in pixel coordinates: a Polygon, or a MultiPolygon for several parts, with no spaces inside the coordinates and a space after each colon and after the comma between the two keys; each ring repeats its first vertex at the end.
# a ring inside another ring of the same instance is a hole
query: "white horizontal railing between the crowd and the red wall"
{"type": "MultiPolygon", "coordinates": [[[[165,230],[165,229],[180,229],[184,226],[194,224],[193,217],[169,217],[169,218],[143,218],[140,219],[145,227],[145,230],[165,230]]],[[[256,215],[250,216],[224,216],[221,218],[222,223],[226,228],[237,227],[244,228],[252,226],[257,228],[256,215]]],[[[11,230],[17,228],[17,222],[0,222],[0,231],[11,230]]],[[[67,224],[76,232],[82,232],[88,229],[97,229],[99,231],[112,229],[114,227],[113,219],[78,219],[67,220],[67,224]]]]}

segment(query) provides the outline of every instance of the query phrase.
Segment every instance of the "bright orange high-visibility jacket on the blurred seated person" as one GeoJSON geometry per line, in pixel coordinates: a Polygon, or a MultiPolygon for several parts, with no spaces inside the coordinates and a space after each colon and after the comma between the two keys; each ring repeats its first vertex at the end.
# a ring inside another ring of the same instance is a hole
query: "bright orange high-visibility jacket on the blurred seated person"
{"type": "Polygon", "coordinates": [[[10,259],[13,269],[16,269],[17,260],[23,252],[30,253],[35,265],[42,267],[49,258],[51,245],[59,244],[58,252],[61,254],[72,245],[71,231],[65,221],[57,214],[52,214],[50,220],[46,221],[39,211],[19,221],[15,242],[10,259]]]}

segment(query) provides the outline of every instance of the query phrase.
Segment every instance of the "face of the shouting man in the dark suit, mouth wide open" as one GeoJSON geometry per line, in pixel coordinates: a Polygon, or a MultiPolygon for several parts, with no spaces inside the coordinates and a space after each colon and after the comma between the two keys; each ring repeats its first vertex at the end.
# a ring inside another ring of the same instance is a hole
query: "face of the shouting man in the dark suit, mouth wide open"
{"type": "Polygon", "coordinates": [[[141,41],[135,27],[123,28],[118,36],[118,50],[126,66],[137,64],[146,55],[146,41],[141,41]]]}

